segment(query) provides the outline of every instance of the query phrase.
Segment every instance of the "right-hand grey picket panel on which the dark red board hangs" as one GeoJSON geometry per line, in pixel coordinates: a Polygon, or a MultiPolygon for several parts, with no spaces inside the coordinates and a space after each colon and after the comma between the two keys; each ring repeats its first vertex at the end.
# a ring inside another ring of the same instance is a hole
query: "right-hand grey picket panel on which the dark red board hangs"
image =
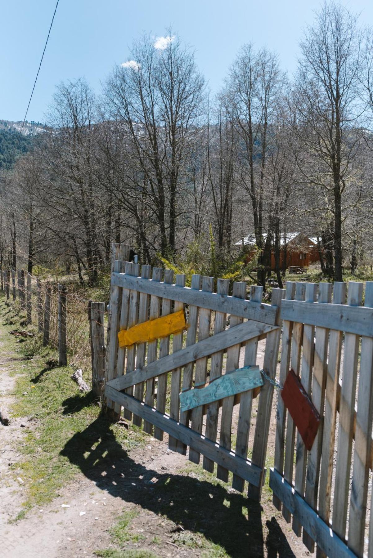
{"type": "Polygon", "coordinates": [[[373,282],[364,306],[362,283],[348,284],[347,305],[346,284],[333,289],[331,303],[329,283],[286,283],[286,299],[295,300],[281,306],[280,383],[293,369],[321,421],[307,451],[300,411],[290,416],[279,398],[270,487],[310,551],[316,542],[318,556],[373,556],[373,282]]]}

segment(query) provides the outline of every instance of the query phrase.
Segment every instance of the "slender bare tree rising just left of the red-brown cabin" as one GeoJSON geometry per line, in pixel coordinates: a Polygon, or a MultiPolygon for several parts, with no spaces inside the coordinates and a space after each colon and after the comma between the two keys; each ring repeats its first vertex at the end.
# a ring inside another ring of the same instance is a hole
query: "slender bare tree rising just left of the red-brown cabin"
{"type": "Polygon", "coordinates": [[[265,286],[270,267],[272,230],[265,222],[265,189],[267,151],[270,128],[275,124],[278,103],[285,76],[279,69],[278,56],[249,44],[242,47],[229,71],[227,110],[237,142],[237,179],[251,202],[252,223],[258,259],[258,282],[265,286]],[[267,233],[264,237],[264,233],[267,233]]]}

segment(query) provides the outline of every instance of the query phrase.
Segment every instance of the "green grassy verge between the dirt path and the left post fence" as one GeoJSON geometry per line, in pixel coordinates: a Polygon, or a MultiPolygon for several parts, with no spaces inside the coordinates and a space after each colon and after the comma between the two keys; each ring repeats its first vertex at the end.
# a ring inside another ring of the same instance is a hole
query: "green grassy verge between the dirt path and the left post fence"
{"type": "Polygon", "coordinates": [[[26,488],[23,509],[15,518],[21,519],[28,509],[44,506],[58,496],[59,489],[79,471],[79,464],[71,463],[61,451],[76,433],[87,429],[93,421],[97,440],[105,436],[111,455],[118,445],[131,449],[142,444],[146,435],[135,426],[126,430],[100,417],[100,408],[92,396],[79,393],[70,379],[73,370],[56,366],[57,355],[51,349],[43,349],[37,335],[30,340],[22,339],[23,342],[8,335],[20,325],[22,317],[6,306],[3,299],[0,315],[2,324],[5,321],[1,326],[2,352],[8,353],[8,371],[16,376],[12,417],[27,417],[26,438],[18,448],[22,459],[16,465],[26,488]],[[112,436],[108,436],[108,432],[112,436]]]}

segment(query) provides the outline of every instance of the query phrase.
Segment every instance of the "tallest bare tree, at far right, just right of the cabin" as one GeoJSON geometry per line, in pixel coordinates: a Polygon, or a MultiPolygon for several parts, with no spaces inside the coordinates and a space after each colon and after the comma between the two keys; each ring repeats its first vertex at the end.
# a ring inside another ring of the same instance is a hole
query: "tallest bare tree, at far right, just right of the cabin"
{"type": "Polygon", "coordinates": [[[336,281],[342,281],[343,196],[360,147],[360,45],[357,16],[340,4],[324,3],[300,43],[296,77],[294,130],[302,135],[304,150],[299,168],[319,191],[314,209],[328,221],[323,246],[336,281]],[[334,270],[328,237],[333,239],[334,270]]]}

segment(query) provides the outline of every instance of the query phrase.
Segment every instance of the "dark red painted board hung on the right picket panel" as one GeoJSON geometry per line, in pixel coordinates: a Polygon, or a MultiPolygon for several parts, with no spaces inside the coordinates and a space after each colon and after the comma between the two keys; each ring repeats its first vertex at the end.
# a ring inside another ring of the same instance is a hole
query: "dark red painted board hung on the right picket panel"
{"type": "Polygon", "coordinates": [[[285,380],[281,397],[302,436],[305,447],[310,451],[320,424],[320,415],[294,370],[290,370],[285,380]]]}

